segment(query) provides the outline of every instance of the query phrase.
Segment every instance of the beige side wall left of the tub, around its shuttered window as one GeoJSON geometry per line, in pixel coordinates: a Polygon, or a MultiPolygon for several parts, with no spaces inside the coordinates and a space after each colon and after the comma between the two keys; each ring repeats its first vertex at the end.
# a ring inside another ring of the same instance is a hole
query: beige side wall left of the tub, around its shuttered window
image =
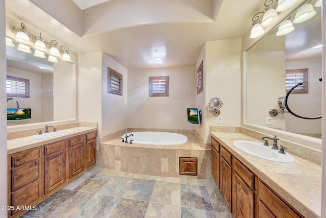
{"type": "Polygon", "coordinates": [[[102,131],[112,134],[127,128],[128,70],[106,54],[103,54],[102,69],[102,131]],[[107,67],[122,74],[122,96],[107,93],[107,67]]]}

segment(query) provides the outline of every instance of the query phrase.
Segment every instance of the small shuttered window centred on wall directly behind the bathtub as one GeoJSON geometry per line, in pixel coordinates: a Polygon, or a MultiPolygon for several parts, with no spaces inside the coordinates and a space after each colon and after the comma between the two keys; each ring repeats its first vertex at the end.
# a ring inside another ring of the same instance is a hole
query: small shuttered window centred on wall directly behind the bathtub
{"type": "Polygon", "coordinates": [[[169,96],[169,76],[149,77],[149,96],[169,96]]]}

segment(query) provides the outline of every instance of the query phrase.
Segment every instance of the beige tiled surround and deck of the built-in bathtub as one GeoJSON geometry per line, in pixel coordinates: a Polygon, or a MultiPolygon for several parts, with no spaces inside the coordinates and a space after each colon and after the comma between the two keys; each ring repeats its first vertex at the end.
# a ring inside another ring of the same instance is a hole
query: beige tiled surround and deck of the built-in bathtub
{"type": "Polygon", "coordinates": [[[187,136],[188,141],[176,146],[129,144],[121,142],[120,134],[119,137],[100,142],[96,165],[127,173],[183,177],[179,175],[179,157],[197,157],[198,176],[192,177],[211,179],[210,149],[204,149],[192,132],[175,132],[187,136]]]}

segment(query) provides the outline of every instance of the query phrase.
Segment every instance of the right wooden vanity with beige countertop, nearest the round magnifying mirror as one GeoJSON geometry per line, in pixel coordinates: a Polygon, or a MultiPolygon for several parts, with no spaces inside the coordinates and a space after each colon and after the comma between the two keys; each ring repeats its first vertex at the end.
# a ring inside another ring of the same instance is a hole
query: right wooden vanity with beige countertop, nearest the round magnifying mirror
{"type": "Polygon", "coordinates": [[[241,133],[211,132],[211,171],[233,217],[320,217],[321,166],[278,163],[233,146],[241,133]]]}

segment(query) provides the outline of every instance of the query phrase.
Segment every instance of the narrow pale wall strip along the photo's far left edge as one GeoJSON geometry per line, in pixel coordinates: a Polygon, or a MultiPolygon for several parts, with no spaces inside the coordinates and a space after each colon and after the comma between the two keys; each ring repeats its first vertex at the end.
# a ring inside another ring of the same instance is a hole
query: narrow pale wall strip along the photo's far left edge
{"type": "MultiPolygon", "coordinates": [[[[0,0],[0,108],[6,108],[6,27],[5,27],[5,0],[0,0]]],[[[7,186],[7,116],[0,113],[0,205],[8,205],[7,186]]],[[[7,211],[0,210],[0,217],[7,217],[7,211]]]]}

